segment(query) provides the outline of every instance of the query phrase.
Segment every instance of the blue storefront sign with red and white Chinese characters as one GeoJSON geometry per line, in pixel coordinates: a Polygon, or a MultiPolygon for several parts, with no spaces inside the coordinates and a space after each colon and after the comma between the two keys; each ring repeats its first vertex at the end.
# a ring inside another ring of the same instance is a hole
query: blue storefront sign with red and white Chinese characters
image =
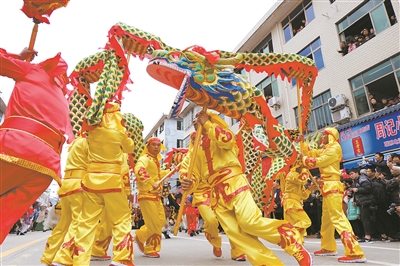
{"type": "Polygon", "coordinates": [[[400,150],[400,112],[364,118],[338,127],[343,151],[344,168],[357,167],[362,157],[373,157],[376,152],[390,153],[400,150]],[[374,118],[375,117],[375,118],[374,118]]]}

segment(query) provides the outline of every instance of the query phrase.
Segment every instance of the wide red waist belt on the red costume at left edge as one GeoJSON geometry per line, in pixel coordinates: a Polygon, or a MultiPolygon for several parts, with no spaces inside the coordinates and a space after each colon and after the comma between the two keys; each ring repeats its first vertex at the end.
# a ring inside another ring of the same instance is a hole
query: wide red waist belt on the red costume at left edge
{"type": "Polygon", "coordinates": [[[45,124],[23,116],[9,116],[4,120],[0,130],[14,130],[24,132],[50,146],[58,154],[64,144],[64,136],[58,134],[45,124]]]}

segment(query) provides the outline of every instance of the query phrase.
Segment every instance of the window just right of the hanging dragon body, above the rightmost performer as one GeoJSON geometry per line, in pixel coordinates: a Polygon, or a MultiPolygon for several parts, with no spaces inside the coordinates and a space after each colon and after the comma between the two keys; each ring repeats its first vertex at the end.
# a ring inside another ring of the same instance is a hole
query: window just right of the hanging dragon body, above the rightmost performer
{"type": "MultiPolygon", "coordinates": [[[[330,90],[314,97],[310,121],[307,124],[307,130],[304,130],[304,132],[308,134],[333,124],[331,111],[328,105],[328,99],[331,97],[330,90]]],[[[296,117],[296,125],[299,126],[297,106],[294,108],[294,113],[296,117]]]]}

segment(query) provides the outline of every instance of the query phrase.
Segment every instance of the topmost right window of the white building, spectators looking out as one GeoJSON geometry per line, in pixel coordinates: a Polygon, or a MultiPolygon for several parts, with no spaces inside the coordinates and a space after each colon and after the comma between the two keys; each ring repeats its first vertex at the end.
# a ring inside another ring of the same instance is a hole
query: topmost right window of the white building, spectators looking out
{"type": "Polygon", "coordinates": [[[337,23],[340,41],[356,47],[397,22],[390,0],[369,0],[337,23]],[[367,32],[364,32],[364,29],[367,32]],[[361,38],[359,38],[361,37],[361,38]]]}

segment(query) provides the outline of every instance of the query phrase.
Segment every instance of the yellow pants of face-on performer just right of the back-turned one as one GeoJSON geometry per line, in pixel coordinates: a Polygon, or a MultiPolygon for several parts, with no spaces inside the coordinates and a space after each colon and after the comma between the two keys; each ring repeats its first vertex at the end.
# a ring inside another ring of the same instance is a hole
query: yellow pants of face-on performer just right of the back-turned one
{"type": "Polygon", "coordinates": [[[165,225],[165,211],[161,200],[140,200],[144,226],[136,230],[139,241],[145,243],[144,254],[161,250],[161,231],[165,225]]]}

